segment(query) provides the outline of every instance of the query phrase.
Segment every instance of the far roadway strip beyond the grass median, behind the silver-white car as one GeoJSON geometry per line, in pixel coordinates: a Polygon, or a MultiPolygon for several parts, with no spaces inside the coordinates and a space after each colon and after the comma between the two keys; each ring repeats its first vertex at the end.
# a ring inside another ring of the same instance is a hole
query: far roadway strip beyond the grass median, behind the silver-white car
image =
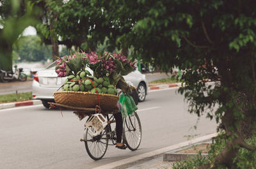
{"type": "MultiPolygon", "coordinates": [[[[170,75],[166,75],[166,73],[146,73],[148,82],[152,82],[154,80],[159,80],[162,78],[168,78],[170,75]]],[[[0,82],[0,95],[1,94],[11,94],[17,92],[31,92],[32,80],[29,79],[26,82],[8,82],[1,83],[0,82]]]]}

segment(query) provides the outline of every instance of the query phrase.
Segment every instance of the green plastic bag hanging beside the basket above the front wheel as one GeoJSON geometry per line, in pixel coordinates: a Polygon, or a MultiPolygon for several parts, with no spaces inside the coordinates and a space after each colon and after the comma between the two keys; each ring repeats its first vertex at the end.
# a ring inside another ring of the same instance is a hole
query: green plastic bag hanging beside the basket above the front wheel
{"type": "Polygon", "coordinates": [[[138,109],[138,107],[136,107],[136,104],[134,103],[132,96],[130,96],[129,94],[122,93],[119,97],[119,101],[122,105],[122,117],[126,117],[127,115],[132,114],[132,112],[138,109]]]}

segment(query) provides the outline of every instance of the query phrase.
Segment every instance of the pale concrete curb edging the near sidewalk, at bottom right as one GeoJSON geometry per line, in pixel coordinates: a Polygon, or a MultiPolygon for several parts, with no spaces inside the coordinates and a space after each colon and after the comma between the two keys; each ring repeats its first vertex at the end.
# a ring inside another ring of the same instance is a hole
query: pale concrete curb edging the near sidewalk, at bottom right
{"type": "Polygon", "coordinates": [[[205,140],[209,140],[214,136],[217,136],[218,133],[213,133],[211,135],[205,135],[198,138],[193,138],[192,140],[177,143],[175,145],[171,145],[169,147],[164,147],[163,149],[157,149],[156,151],[146,152],[144,154],[140,154],[137,156],[133,156],[131,158],[121,159],[119,161],[115,161],[113,163],[108,163],[106,165],[98,166],[94,169],[111,169],[111,168],[129,168],[130,166],[133,166],[136,163],[143,163],[144,161],[150,160],[155,158],[156,156],[159,156],[161,154],[164,154],[164,152],[173,151],[175,149],[180,149],[182,147],[186,147],[188,145],[192,145],[198,142],[203,142],[205,140]]]}

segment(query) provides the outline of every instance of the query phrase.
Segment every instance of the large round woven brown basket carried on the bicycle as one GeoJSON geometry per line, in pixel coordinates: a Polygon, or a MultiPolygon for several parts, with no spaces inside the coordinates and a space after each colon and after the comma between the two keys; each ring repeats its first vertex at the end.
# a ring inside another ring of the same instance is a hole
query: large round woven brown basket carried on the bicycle
{"type": "Polygon", "coordinates": [[[69,105],[72,107],[95,108],[99,105],[105,111],[112,110],[116,107],[119,97],[113,94],[98,94],[95,92],[76,92],[76,91],[58,91],[54,92],[54,100],[56,103],[69,105]]]}

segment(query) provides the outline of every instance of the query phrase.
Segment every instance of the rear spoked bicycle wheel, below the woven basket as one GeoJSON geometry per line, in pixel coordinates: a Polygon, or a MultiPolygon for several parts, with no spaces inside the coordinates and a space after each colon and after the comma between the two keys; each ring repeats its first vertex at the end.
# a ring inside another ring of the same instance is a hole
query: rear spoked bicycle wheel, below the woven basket
{"type": "MultiPolygon", "coordinates": [[[[92,127],[90,129],[95,133],[92,127]]],[[[90,158],[99,160],[104,156],[108,148],[108,137],[106,136],[105,129],[99,135],[92,136],[92,133],[88,132],[86,128],[84,131],[84,140],[84,145],[90,158]]]]}

